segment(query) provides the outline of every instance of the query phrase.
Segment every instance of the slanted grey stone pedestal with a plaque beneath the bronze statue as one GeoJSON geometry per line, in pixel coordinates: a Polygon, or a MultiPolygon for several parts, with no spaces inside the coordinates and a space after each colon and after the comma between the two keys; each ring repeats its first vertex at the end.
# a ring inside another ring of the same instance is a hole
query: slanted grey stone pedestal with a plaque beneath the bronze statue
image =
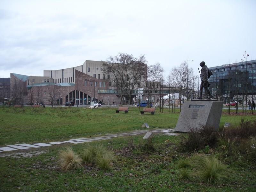
{"type": "Polygon", "coordinates": [[[219,129],[223,101],[192,100],[185,101],[180,112],[175,131],[198,132],[202,127],[219,129]]]}

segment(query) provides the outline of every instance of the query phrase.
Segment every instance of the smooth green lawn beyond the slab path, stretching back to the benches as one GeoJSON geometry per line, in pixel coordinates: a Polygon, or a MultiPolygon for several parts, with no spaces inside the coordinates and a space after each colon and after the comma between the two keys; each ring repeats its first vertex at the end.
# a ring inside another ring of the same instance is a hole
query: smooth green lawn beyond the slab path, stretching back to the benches
{"type": "MultiPolygon", "coordinates": [[[[143,123],[150,128],[175,128],[178,118],[179,113],[168,109],[140,115],[138,108],[129,108],[128,114],[116,114],[115,108],[0,108],[0,146],[126,132],[141,129],[143,123]]],[[[254,116],[222,115],[220,125],[238,124],[241,118],[250,120],[254,116]]]]}

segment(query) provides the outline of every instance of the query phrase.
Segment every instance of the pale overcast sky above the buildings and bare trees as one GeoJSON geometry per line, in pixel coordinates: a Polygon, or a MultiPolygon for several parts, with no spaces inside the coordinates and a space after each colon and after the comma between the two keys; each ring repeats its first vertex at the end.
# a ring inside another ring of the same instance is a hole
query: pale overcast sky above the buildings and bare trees
{"type": "Polygon", "coordinates": [[[0,1],[0,77],[106,61],[118,52],[197,73],[256,59],[256,1],[0,1]]]}

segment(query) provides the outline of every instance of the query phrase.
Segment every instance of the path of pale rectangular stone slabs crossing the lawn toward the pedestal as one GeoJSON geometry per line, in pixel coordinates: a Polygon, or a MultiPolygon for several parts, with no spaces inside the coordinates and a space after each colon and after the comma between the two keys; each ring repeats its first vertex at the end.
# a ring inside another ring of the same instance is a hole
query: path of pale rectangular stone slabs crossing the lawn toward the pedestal
{"type": "Polygon", "coordinates": [[[16,151],[16,150],[23,150],[23,149],[31,149],[31,148],[41,148],[41,147],[49,147],[53,145],[60,145],[64,143],[72,143],[72,144],[79,144],[79,143],[87,143],[92,141],[100,141],[100,140],[108,140],[114,137],[121,137],[121,136],[129,136],[129,135],[140,135],[147,132],[155,132],[155,133],[172,133],[170,135],[178,135],[177,133],[173,133],[174,129],[153,129],[153,130],[135,130],[130,131],[126,133],[116,133],[116,134],[107,134],[105,136],[100,137],[80,137],[80,138],[74,138],[67,141],[55,141],[55,142],[47,142],[47,143],[34,143],[34,144],[27,144],[27,143],[21,143],[21,144],[15,144],[15,145],[7,145],[6,147],[0,147],[0,153],[6,152],[6,151],[16,151]]]}

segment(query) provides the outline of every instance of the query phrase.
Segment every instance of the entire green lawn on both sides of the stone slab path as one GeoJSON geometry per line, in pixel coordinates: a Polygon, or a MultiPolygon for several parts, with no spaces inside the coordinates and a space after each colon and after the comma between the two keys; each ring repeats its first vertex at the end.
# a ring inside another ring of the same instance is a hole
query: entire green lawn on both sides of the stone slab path
{"type": "MultiPolygon", "coordinates": [[[[169,113],[168,109],[164,113],[156,110],[155,115],[140,115],[138,108],[129,108],[128,114],[115,114],[115,108],[1,108],[0,145],[139,130],[145,122],[150,128],[174,128],[178,118],[179,113],[169,113]]],[[[255,119],[254,116],[222,115],[220,125],[239,124],[242,118],[255,119]]],[[[153,151],[129,149],[127,137],[90,143],[102,143],[115,154],[116,160],[108,171],[94,165],[61,170],[57,161],[65,145],[1,153],[0,191],[255,191],[255,165],[246,162],[225,160],[227,178],[220,186],[207,185],[196,177],[182,179],[179,159],[194,161],[194,153],[178,150],[184,137],[186,133],[155,135],[153,151]],[[34,155],[29,156],[31,154],[34,155]]],[[[138,145],[142,136],[132,138],[134,145],[138,145]]],[[[67,144],[78,154],[87,145],[67,144]]],[[[188,168],[191,172],[194,169],[193,164],[188,168]]]]}

